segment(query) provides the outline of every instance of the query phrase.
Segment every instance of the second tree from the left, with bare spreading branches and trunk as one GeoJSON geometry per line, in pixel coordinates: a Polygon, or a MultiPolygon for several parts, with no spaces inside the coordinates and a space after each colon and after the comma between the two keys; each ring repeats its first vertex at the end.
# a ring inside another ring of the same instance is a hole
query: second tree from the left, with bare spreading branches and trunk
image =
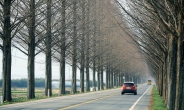
{"type": "Polygon", "coordinates": [[[15,34],[13,46],[28,56],[27,98],[32,99],[35,98],[35,56],[43,52],[44,47],[42,47],[41,43],[45,39],[45,36],[42,35],[44,29],[40,25],[45,18],[40,17],[41,13],[36,9],[42,6],[44,2],[30,0],[21,1],[20,4],[18,14],[24,18],[24,21],[21,24],[20,30],[15,34]],[[37,29],[38,27],[39,29],[37,29]]]}

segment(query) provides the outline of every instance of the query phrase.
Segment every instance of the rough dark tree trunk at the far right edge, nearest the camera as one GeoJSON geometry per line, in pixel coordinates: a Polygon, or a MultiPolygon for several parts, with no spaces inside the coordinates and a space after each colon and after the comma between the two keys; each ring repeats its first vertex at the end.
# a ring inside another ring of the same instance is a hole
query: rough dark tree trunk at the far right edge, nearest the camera
{"type": "MultiPolygon", "coordinates": [[[[178,9],[183,8],[183,0],[178,0],[178,9]]],[[[183,61],[183,10],[177,10],[177,34],[178,34],[178,39],[177,39],[177,71],[176,71],[176,99],[175,99],[175,110],[181,110],[181,102],[182,102],[182,81],[181,79],[181,74],[183,74],[181,71],[183,69],[182,62],[183,61]]]]}

